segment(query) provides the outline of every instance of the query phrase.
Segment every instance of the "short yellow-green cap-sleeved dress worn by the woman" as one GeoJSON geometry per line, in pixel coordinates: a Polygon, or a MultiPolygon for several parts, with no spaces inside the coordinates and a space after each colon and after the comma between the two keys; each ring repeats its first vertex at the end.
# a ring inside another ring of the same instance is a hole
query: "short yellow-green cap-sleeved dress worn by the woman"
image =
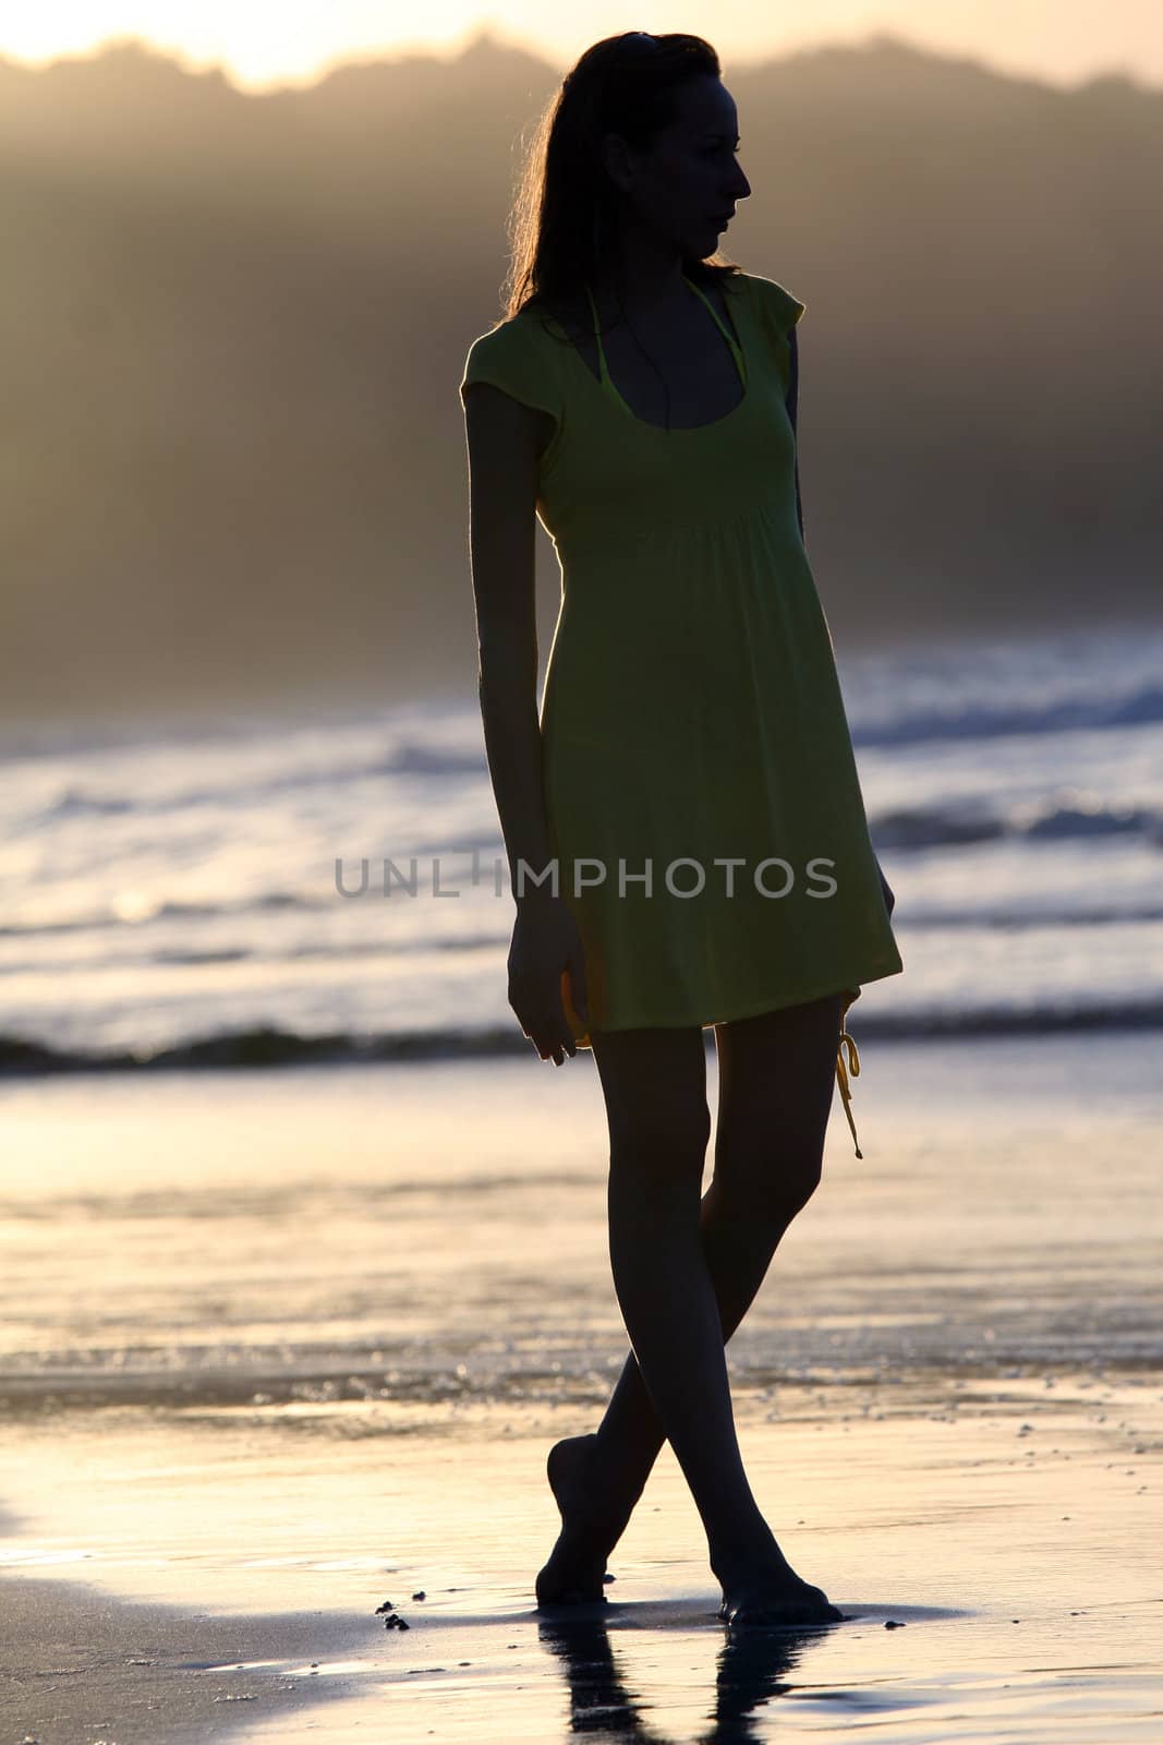
{"type": "MultiPolygon", "coordinates": [[[[596,1030],[851,1003],[903,968],[797,520],[788,332],[806,305],[774,279],[720,279],[736,342],[687,284],[743,382],[710,424],[638,419],[596,312],[602,380],[523,309],[474,340],[460,382],[556,424],[537,492],[561,567],[544,799],[596,1030]]],[[[586,1047],[568,977],[563,995],[586,1047]]],[[[847,1105],[842,1056],[839,1073],[847,1105]]]]}

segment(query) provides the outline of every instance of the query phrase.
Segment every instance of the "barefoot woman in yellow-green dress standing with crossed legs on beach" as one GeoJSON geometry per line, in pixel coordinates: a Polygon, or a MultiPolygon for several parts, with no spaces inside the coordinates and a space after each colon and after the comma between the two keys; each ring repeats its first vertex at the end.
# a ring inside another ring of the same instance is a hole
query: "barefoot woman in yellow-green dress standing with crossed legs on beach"
{"type": "Polygon", "coordinates": [[[718,1616],[816,1623],[842,1614],[758,1509],[724,1347],[820,1181],[844,1012],[901,960],[804,550],[804,304],[708,258],[750,194],[736,148],[703,38],[588,49],[542,120],[507,314],[460,393],[509,1002],[542,1059],[593,1050],[633,1347],[598,1431],[549,1454],[561,1534],[537,1600],[603,1598],[670,1438],[718,1616]],[[563,588],[541,717],[534,515],[563,588]]]}

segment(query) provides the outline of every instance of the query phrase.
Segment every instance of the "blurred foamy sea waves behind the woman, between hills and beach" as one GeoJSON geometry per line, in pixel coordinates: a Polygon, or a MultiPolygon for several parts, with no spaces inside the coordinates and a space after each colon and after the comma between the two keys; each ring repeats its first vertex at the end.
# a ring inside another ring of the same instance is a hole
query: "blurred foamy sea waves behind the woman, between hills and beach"
{"type": "MultiPolygon", "coordinates": [[[[1160,1026],[1163,632],[837,656],[905,961],[861,1033],[1160,1026]]],[[[2,775],[7,1070],[528,1049],[476,703],[2,775]]]]}

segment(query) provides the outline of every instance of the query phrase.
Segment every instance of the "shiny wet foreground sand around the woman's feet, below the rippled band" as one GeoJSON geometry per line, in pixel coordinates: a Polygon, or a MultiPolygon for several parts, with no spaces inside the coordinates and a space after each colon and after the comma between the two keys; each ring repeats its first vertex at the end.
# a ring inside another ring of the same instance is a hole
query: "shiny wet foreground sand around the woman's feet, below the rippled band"
{"type": "Polygon", "coordinates": [[[5,1447],[28,1508],[0,1590],[7,1736],[1160,1738],[1158,1379],[877,1386],[832,1410],[783,1391],[778,1420],[741,1422],[745,1457],[847,1619],[738,1635],[670,1450],[605,1607],[537,1614],[546,1434],[572,1426],[453,1412],[385,1450],[359,1415],[279,1445],[78,1422],[35,1478],[5,1447]]]}

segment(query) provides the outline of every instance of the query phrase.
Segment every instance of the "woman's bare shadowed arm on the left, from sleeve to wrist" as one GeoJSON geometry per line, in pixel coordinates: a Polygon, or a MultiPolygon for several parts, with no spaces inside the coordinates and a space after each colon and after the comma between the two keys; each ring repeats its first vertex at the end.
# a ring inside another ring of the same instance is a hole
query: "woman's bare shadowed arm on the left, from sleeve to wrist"
{"type": "MultiPolygon", "coordinates": [[[[547,866],[549,834],[537,719],[534,520],[542,415],[492,382],[464,394],[478,695],[488,775],[518,899],[518,862],[547,866]]],[[[544,433],[542,433],[544,435],[544,433]]],[[[527,883],[527,895],[537,888],[527,883]]],[[[544,886],[549,893],[549,886],[544,886]]],[[[521,899],[518,899],[518,907],[521,899]]]]}

